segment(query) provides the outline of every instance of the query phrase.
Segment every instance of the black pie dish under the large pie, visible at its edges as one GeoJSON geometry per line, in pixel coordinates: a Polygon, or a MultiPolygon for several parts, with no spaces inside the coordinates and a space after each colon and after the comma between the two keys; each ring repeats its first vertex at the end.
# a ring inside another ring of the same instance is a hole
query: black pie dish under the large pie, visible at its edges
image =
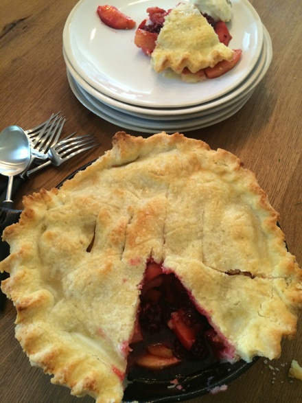
{"type": "MultiPolygon", "coordinates": [[[[63,179],[56,187],[61,187],[65,181],[72,179],[75,174],[85,170],[95,161],[82,165],[63,179]]],[[[202,367],[188,375],[177,373],[177,367],[175,367],[174,376],[163,379],[156,378],[156,373],[154,373],[154,376],[132,377],[130,371],[123,402],[166,403],[198,398],[211,391],[224,389],[224,386],[250,369],[258,359],[259,357],[255,357],[251,362],[239,360],[233,364],[216,360],[211,362],[209,366],[202,367]]],[[[171,373],[171,369],[169,372],[171,373]]]]}

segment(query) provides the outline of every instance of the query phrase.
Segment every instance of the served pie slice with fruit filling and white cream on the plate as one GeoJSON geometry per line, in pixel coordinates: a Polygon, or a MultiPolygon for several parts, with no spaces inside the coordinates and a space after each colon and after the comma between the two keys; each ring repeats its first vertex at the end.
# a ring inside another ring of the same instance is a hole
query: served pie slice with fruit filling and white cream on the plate
{"type": "Polygon", "coordinates": [[[150,56],[156,73],[200,82],[218,78],[239,62],[242,49],[228,47],[232,36],[229,0],[195,0],[171,10],[147,8],[135,32],[135,45],[150,56]]]}

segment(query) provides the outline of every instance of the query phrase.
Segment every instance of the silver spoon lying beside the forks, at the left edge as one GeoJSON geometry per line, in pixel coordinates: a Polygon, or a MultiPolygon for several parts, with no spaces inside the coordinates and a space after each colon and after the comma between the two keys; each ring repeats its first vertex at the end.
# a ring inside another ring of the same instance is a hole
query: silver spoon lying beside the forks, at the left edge
{"type": "Polygon", "coordinates": [[[19,126],[8,126],[0,133],[0,174],[8,176],[8,189],[3,207],[12,207],[12,183],[30,164],[30,141],[19,126]]]}

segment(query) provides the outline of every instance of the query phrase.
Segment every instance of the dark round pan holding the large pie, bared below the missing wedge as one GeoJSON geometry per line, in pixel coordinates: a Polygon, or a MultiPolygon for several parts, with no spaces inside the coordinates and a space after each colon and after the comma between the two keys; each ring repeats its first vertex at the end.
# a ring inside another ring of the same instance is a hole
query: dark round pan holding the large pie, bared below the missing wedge
{"type": "MultiPolygon", "coordinates": [[[[72,179],[75,174],[87,168],[91,163],[67,176],[58,184],[72,179]]],[[[235,364],[219,362],[213,357],[200,362],[184,362],[183,364],[165,369],[158,373],[133,367],[128,373],[128,386],[124,392],[124,402],[165,403],[189,400],[205,395],[211,390],[229,384],[247,371],[256,361],[240,360],[235,364]],[[177,380],[175,382],[175,380],[177,380]],[[173,382],[172,382],[173,381],[173,382]]]]}

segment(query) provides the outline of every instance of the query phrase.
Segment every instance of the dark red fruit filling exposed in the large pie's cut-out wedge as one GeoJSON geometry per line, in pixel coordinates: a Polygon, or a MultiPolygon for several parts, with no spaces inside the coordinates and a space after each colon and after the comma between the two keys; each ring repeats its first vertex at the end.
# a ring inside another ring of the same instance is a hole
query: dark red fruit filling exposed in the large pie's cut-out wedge
{"type": "Polygon", "coordinates": [[[196,307],[174,273],[149,262],[141,288],[141,304],[130,342],[129,365],[152,371],[183,360],[232,356],[232,347],[196,307]]]}

